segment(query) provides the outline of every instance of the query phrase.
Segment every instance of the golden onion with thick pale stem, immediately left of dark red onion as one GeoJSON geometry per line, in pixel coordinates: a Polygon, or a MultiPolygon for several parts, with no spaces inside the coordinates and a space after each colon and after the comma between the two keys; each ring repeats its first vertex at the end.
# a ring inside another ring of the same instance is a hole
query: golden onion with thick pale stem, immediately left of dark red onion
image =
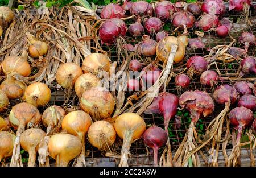
{"type": "Polygon", "coordinates": [[[114,128],[117,135],[123,139],[119,167],[128,166],[131,143],[141,138],[146,130],[146,123],[138,114],[123,113],[115,119],[114,128]]]}

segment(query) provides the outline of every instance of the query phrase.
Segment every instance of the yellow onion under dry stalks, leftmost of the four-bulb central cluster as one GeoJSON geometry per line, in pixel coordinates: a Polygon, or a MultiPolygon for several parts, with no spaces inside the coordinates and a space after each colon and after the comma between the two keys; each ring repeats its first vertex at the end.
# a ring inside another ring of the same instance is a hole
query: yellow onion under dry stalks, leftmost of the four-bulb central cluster
{"type": "Polygon", "coordinates": [[[63,88],[72,88],[79,76],[82,74],[82,69],[75,63],[61,64],[57,69],[56,80],[63,88]]]}

